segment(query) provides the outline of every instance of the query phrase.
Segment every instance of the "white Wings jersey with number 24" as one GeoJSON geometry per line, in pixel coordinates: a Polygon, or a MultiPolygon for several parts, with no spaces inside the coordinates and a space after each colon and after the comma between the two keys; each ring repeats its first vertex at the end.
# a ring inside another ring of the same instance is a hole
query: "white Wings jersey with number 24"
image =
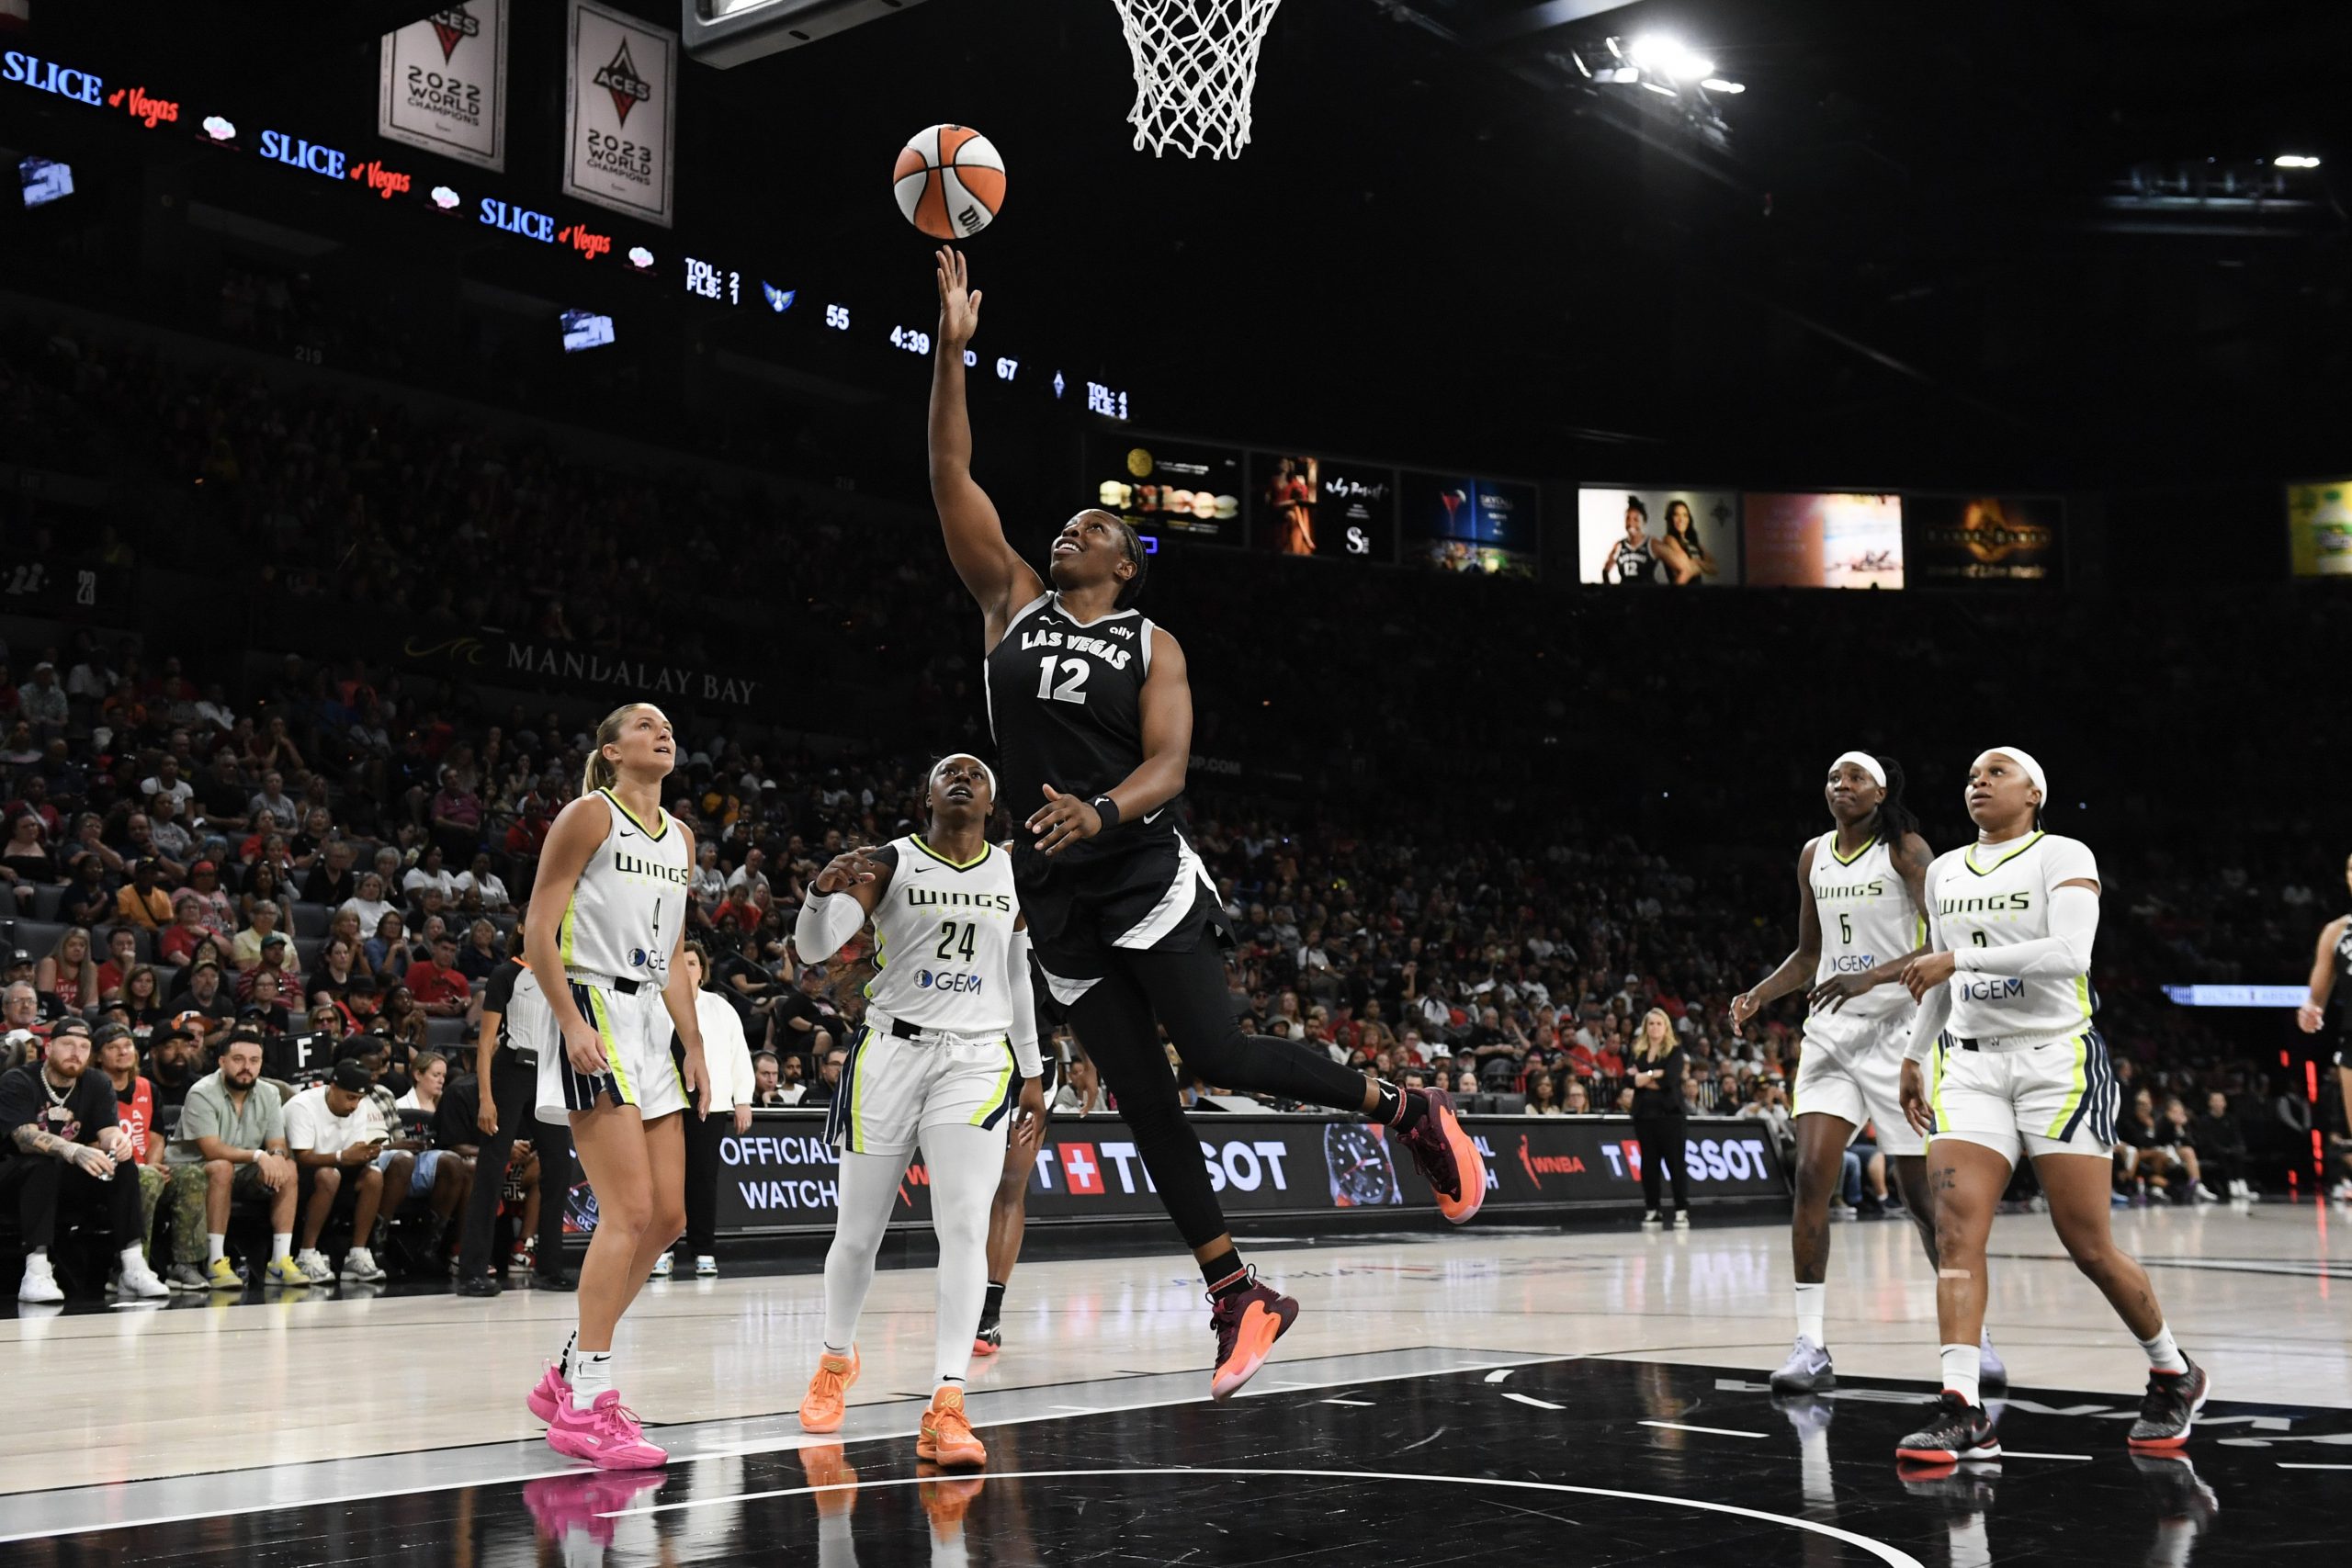
{"type": "Polygon", "coordinates": [[[873,1011],[924,1030],[976,1039],[1011,1034],[1007,947],[1021,900],[1014,858],[990,844],[978,860],[957,865],[922,842],[891,839],[898,865],[875,905],[875,978],[866,985],[873,1011]]]}

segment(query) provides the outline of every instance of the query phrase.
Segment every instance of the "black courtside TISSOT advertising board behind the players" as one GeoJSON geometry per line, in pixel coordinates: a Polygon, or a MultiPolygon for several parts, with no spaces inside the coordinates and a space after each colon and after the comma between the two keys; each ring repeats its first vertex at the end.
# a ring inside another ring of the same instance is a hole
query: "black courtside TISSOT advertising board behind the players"
{"type": "MultiPolygon", "coordinates": [[[[1430,1190],[1383,1128],[1317,1117],[1195,1114],[1218,1201],[1244,1215],[1428,1208],[1430,1190]]],[[[1642,1150],[1625,1117],[1465,1117],[1486,1157],[1484,1213],[1642,1197],[1642,1150]]],[[[1684,1145],[1693,1201],[1788,1192],[1764,1124],[1693,1117],[1684,1145]]],[[[833,1229],[840,1154],[823,1112],[757,1112],[753,1131],[720,1140],[720,1229],[731,1234],[833,1229]]],[[[574,1190],[569,1229],[586,1229],[593,1199],[574,1190]]],[[[1157,1190],[1117,1117],[1061,1117],[1044,1131],[1030,1173],[1030,1220],[1157,1220],[1157,1190]]],[[[931,1220],[922,1157],[898,1182],[901,1222],[931,1220]]]]}

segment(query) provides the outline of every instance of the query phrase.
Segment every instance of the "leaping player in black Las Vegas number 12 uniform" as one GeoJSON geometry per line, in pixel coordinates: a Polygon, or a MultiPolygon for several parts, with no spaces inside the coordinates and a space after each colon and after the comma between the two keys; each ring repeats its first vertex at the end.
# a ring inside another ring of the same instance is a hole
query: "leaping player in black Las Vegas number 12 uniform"
{"type": "Polygon", "coordinates": [[[981,604],[1004,799],[1016,816],[1028,811],[1025,835],[1014,835],[1014,886],[1037,966],[1117,1095],[1160,1201],[1209,1284],[1218,1335],[1211,1392],[1223,1399],[1258,1371],[1298,1302],[1242,1267],[1160,1051],[1160,1025],[1202,1081],[1392,1128],[1449,1220],[1477,1213],[1486,1166],[1444,1091],[1367,1081],[1301,1041],[1242,1034],[1225,990],[1232,936],[1209,872],[1176,830],[1192,748],[1183,649],[1134,609],[1148,557],[1124,520],[1101,510],[1070,517],[1054,536],[1051,590],[1007,543],[997,508],[971,480],[964,346],[978,313],[964,259],[941,249],[931,501],[948,559],[981,604]]]}

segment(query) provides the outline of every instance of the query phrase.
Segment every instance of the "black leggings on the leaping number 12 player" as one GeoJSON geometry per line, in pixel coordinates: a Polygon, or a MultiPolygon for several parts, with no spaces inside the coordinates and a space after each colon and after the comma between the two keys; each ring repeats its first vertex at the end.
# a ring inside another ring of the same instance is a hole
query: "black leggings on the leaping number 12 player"
{"type": "Polygon", "coordinates": [[[1110,971],[1070,1009],[1070,1027],[1117,1095],[1120,1119],[1136,1135],[1136,1154],[1178,1234],[1185,1246],[1200,1248],[1225,1234],[1225,1211],[1209,1190],[1200,1138],[1176,1098],[1176,1074],[1160,1051],[1157,1025],[1167,1025],[1185,1072],[1216,1088],[1359,1114],[1364,1074],[1296,1039],[1242,1034],[1214,943],[1204,940],[1192,952],[1112,950],[1110,971]]]}

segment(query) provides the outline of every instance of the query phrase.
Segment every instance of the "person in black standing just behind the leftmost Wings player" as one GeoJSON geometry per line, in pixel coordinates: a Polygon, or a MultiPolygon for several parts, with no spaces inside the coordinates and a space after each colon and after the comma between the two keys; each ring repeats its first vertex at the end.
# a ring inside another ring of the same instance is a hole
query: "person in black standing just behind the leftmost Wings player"
{"type": "MultiPolygon", "coordinates": [[[[466,1227],[456,1248],[456,1293],[496,1295],[489,1274],[489,1232],[499,1222],[499,1192],[506,1190],[506,1161],[515,1138],[529,1133],[539,1152],[539,1244],[532,1258],[532,1284],[541,1291],[576,1291],[579,1279],[564,1272],[564,1194],[572,1192],[572,1128],[562,1121],[536,1121],[539,1056],[506,1027],[517,987],[539,987],[522,964],[522,926],[506,943],[506,964],[482,990],[482,1034],[473,1051],[473,1126],[480,1147],[473,1157],[473,1197],[466,1201],[466,1227]]],[[[560,1048],[560,1046],[557,1046],[560,1048]]],[[[463,1110],[463,1088],[442,1095],[442,1121],[463,1110]]],[[[445,1140],[447,1143],[447,1140],[445,1140]]]]}

